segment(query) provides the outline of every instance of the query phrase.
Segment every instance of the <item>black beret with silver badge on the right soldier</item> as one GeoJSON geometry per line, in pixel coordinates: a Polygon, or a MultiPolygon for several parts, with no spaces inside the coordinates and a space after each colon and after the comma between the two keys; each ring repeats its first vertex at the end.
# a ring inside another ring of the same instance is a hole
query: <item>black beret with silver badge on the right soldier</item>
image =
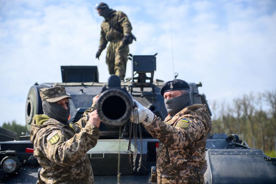
{"type": "Polygon", "coordinates": [[[174,90],[189,90],[190,86],[186,81],[183,81],[181,79],[174,79],[172,81],[166,82],[161,90],[160,94],[163,96],[165,92],[167,91],[174,91],[174,90]]]}

